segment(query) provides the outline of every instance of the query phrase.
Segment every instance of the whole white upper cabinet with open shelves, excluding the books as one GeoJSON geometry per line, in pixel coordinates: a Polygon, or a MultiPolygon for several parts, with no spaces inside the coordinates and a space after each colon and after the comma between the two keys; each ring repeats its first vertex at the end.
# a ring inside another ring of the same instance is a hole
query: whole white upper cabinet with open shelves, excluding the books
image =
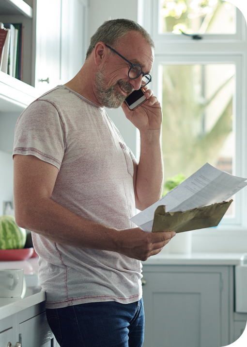
{"type": "Polygon", "coordinates": [[[81,68],[87,0],[0,0],[0,22],[23,24],[22,81],[0,71],[0,112],[22,112],[81,68]]]}

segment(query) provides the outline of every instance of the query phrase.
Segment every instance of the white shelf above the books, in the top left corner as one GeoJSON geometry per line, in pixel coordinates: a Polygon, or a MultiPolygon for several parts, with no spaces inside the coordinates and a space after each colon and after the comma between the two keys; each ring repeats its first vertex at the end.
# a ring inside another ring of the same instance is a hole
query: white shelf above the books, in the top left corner
{"type": "Polygon", "coordinates": [[[32,8],[23,0],[1,0],[1,15],[24,15],[32,18],[32,8]]]}

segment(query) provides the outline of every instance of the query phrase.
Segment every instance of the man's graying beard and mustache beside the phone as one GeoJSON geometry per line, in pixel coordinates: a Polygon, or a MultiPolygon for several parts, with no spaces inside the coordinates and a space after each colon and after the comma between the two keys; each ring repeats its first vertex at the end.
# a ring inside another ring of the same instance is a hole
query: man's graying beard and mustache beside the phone
{"type": "Polygon", "coordinates": [[[118,80],[113,86],[107,87],[106,64],[100,71],[96,72],[94,91],[98,101],[105,107],[118,108],[126,99],[126,96],[116,89],[117,85],[120,85],[127,91],[127,96],[134,90],[128,82],[122,79],[118,80]]]}

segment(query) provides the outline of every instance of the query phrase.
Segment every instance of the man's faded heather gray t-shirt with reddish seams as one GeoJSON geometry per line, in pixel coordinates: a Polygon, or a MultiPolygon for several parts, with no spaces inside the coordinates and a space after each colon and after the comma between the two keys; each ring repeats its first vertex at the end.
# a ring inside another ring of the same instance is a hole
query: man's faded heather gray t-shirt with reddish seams
{"type": "MultiPolygon", "coordinates": [[[[15,127],[13,154],[59,169],[51,199],[93,222],[128,229],[135,214],[130,149],[104,108],[58,86],[34,101],[15,127]]],[[[117,252],[68,246],[32,233],[46,308],[141,298],[141,263],[117,252]]]]}

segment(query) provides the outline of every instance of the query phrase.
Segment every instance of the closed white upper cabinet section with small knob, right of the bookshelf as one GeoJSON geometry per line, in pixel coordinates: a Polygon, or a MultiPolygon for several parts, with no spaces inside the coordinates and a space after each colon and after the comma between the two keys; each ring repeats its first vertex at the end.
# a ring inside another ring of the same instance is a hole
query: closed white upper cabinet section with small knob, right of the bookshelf
{"type": "Polygon", "coordinates": [[[85,59],[86,34],[86,0],[37,0],[35,87],[40,93],[77,74],[85,59]]]}

